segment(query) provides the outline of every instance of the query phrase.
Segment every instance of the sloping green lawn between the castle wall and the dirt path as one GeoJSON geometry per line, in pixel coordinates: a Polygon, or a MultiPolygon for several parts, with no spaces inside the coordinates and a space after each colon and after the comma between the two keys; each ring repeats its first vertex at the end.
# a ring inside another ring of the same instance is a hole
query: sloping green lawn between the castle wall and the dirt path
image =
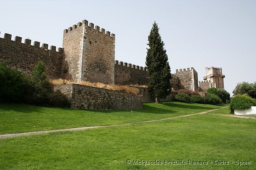
{"type": "Polygon", "coordinates": [[[140,110],[74,110],[25,104],[0,104],[0,134],[123,124],[193,114],[221,106],[162,102],[140,110]]]}

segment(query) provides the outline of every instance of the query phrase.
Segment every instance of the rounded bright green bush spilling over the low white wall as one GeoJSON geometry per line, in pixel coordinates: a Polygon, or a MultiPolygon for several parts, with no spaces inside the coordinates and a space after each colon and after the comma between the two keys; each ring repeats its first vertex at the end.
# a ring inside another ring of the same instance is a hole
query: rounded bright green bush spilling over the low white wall
{"type": "Polygon", "coordinates": [[[234,114],[235,109],[248,109],[251,106],[256,106],[256,99],[251,98],[248,94],[238,94],[231,99],[229,109],[230,113],[234,114]]]}

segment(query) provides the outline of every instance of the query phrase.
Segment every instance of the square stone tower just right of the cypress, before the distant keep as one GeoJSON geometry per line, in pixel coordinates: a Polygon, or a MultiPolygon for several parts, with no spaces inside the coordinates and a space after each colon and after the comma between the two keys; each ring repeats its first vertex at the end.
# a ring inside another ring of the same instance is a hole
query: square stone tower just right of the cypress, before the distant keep
{"type": "Polygon", "coordinates": [[[181,88],[198,91],[198,76],[196,70],[191,67],[183,70],[176,70],[175,75],[180,79],[181,88]]]}

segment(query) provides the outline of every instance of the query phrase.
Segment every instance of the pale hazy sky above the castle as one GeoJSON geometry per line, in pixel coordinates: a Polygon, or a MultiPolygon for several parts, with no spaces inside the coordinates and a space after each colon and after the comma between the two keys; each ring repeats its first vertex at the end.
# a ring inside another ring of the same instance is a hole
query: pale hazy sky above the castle
{"type": "Polygon", "coordinates": [[[255,82],[256,0],[1,0],[0,37],[15,36],[62,47],[63,30],[86,19],[116,34],[115,59],[145,66],[154,21],[171,72],[222,67],[225,89],[255,82]]]}

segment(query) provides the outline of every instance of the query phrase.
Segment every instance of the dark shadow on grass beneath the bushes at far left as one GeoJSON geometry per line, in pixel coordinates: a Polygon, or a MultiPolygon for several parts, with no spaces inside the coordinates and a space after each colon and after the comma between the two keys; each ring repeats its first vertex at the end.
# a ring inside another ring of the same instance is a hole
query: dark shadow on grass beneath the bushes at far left
{"type": "Polygon", "coordinates": [[[44,112],[42,107],[35,106],[35,105],[0,103],[0,112],[4,112],[4,111],[15,111],[15,112],[22,112],[22,113],[29,113],[29,112],[41,113],[41,112],[44,112]]]}

